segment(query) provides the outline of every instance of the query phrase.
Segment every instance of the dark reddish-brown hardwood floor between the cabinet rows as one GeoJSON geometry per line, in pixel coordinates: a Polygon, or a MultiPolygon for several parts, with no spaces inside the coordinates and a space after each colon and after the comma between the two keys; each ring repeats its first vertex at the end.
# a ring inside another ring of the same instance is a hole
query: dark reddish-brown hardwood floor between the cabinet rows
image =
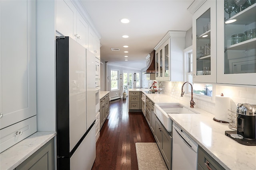
{"type": "Polygon", "coordinates": [[[143,113],[128,113],[128,100],[110,102],[92,170],[138,170],[135,143],[156,142],[143,113]]]}

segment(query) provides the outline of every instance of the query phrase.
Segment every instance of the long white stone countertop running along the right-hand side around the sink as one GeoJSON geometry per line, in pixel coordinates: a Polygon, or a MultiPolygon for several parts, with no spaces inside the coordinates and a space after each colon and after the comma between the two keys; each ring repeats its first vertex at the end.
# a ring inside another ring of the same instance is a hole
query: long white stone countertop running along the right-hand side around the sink
{"type": "MultiPolygon", "coordinates": [[[[130,89],[142,91],[144,89],[130,89]]],[[[146,90],[148,91],[148,90],[146,90]]],[[[190,108],[190,101],[183,101],[164,94],[147,94],[155,104],[179,103],[199,114],[168,114],[200,147],[210,154],[223,168],[230,170],[256,170],[256,146],[242,145],[225,135],[232,131],[228,123],[213,121],[214,114],[190,108]]]]}

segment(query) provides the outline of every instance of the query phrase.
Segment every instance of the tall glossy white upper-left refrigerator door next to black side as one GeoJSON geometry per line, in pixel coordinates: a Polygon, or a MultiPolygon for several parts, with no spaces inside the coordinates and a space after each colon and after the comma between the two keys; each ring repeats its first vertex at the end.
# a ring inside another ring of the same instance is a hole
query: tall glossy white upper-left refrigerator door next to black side
{"type": "Polygon", "coordinates": [[[69,56],[69,117],[71,151],[87,130],[85,80],[86,49],[72,39],[69,39],[69,56]]]}

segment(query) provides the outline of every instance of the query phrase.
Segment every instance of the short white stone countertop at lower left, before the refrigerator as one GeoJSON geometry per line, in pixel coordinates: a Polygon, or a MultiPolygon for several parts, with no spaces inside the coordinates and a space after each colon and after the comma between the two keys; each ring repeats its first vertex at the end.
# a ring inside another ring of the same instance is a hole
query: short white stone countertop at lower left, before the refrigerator
{"type": "Polygon", "coordinates": [[[0,153],[0,170],[13,170],[56,136],[56,132],[36,132],[0,153]]]}

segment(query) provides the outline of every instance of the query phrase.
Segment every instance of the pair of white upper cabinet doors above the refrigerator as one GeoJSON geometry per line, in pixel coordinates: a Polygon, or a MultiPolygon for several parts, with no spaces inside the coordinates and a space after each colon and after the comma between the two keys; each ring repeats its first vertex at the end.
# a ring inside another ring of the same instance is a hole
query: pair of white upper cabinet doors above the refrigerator
{"type": "Polygon", "coordinates": [[[88,48],[88,23],[70,0],[56,1],[56,31],[88,48]]]}

